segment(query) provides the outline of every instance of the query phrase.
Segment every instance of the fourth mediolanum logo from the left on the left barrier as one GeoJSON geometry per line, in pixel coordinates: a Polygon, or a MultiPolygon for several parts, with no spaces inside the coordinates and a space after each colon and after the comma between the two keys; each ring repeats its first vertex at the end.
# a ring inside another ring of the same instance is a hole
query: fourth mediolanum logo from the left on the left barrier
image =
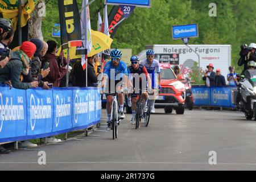
{"type": "Polygon", "coordinates": [[[75,123],[77,123],[78,115],[88,113],[88,102],[85,102],[85,97],[79,97],[77,94],[75,96],[75,109],[74,109],[74,116],[75,116],[75,123]]]}

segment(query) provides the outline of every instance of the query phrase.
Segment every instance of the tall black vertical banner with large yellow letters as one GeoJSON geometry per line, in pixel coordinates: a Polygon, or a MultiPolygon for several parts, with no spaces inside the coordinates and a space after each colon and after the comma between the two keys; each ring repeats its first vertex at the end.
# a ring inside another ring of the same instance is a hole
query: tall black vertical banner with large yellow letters
{"type": "Polygon", "coordinates": [[[58,0],[63,49],[82,46],[81,22],[76,0],[58,0]]]}

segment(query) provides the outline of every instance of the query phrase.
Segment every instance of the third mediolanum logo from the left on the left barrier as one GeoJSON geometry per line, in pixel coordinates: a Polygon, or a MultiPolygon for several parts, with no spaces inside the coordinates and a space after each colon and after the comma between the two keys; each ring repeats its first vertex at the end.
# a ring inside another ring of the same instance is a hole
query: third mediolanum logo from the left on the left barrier
{"type": "Polygon", "coordinates": [[[55,117],[55,126],[59,126],[60,118],[71,115],[71,97],[67,98],[68,104],[65,104],[65,98],[59,98],[59,95],[56,95],[56,117],[55,117]]]}

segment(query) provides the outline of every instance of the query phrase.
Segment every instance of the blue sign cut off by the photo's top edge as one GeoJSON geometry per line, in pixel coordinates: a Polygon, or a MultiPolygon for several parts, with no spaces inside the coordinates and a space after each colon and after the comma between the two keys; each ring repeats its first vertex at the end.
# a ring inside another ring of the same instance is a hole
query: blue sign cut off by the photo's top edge
{"type": "Polygon", "coordinates": [[[151,0],[105,0],[105,4],[151,7],[151,0]]]}

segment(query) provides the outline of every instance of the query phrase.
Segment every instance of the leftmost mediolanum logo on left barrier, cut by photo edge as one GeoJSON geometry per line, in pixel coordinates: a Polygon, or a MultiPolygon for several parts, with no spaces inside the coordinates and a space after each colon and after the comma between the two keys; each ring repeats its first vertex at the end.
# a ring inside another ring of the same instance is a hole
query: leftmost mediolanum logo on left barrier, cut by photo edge
{"type": "Polygon", "coordinates": [[[4,121],[18,121],[24,119],[23,97],[18,97],[18,104],[13,104],[13,97],[6,97],[5,104],[3,103],[3,95],[0,92],[0,133],[3,129],[4,121]]]}

